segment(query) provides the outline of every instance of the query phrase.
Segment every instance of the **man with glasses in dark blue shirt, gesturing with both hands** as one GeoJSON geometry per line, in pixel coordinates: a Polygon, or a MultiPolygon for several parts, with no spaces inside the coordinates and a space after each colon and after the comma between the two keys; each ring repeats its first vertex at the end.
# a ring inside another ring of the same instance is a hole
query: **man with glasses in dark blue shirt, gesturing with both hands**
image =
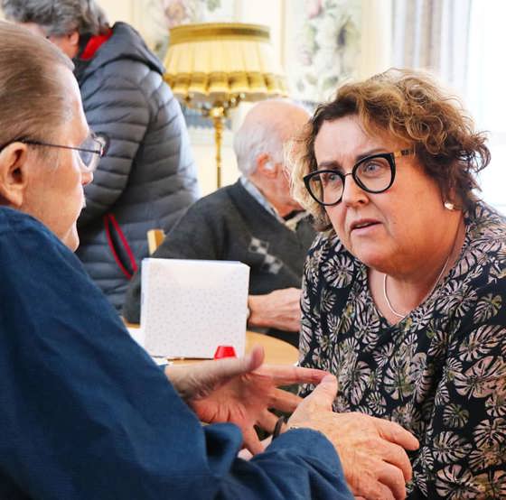
{"type": "Polygon", "coordinates": [[[405,495],[417,440],[331,412],[332,375],[260,366],[261,348],[156,366],[72,254],[106,152],[70,60],[0,22],[0,102],[0,498],[348,499],[337,451],[353,491],[405,495]],[[302,403],[276,388],[297,382],[320,384],[302,403]],[[264,451],[271,407],[295,412],[264,451]]]}

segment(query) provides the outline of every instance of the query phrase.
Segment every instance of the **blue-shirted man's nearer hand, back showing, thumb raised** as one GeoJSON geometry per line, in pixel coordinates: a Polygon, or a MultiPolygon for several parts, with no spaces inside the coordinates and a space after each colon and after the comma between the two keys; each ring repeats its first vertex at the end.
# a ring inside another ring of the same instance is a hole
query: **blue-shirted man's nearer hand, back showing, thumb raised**
{"type": "Polygon", "coordinates": [[[288,421],[288,429],[311,428],[323,432],[332,441],[353,495],[406,498],[411,465],[404,449],[417,449],[417,439],[392,421],[358,412],[332,412],[336,393],[336,378],[325,376],[300,403],[288,421]]]}

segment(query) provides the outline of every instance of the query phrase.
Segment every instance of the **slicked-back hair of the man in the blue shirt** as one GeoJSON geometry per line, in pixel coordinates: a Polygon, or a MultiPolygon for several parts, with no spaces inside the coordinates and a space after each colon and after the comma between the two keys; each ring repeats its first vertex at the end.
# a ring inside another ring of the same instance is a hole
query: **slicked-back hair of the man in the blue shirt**
{"type": "Polygon", "coordinates": [[[61,72],[73,64],[55,45],[0,21],[0,148],[20,139],[56,140],[72,118],[61,72]]]}

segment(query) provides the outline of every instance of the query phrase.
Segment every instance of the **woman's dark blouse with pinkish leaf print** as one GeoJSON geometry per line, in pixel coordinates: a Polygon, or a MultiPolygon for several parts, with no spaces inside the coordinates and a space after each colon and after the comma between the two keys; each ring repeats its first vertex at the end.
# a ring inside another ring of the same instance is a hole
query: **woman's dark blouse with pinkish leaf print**
{"type": "Polygon", "coordinates": [[[411,500],[506,498],[506,220],[481,202],[464,220],[458,261],[394,326],[336,236],[318,236],[305,264],[301,365],[338,377],[335,411],[417,436],[411,500]]]}

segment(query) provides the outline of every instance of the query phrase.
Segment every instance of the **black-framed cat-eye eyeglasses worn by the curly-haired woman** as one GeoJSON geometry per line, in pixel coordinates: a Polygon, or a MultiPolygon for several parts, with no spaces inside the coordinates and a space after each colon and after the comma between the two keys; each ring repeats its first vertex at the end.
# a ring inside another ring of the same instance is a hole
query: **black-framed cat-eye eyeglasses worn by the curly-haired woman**
{"type": "Polygon", "coordinates": [[[342,199],[346,177],[351,175],[362,190],[382,193],[394,182],[395,159],[409,154],[415,154],[415,150],[402,149],[394,153],[372,154],[357,162],[350,173],[336,170],[313,171],[304,177],[305,189],[320,205],[337,205],[342,199]]]}

